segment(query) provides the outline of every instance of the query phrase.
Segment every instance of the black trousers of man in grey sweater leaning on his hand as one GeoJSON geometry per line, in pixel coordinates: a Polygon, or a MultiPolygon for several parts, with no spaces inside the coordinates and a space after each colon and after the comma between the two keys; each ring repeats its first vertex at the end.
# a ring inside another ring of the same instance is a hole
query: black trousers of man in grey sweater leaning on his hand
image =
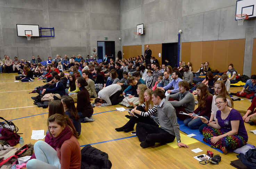
{"type": "Polygon", "coordinates": [[[168,133],[161,127],[146,123],[138,123],[136,125],[136,133],[140,142],[146,141],[148,144],[153,145],[155,143],[171,143],[175,139],[175,135],[168,133]]]}

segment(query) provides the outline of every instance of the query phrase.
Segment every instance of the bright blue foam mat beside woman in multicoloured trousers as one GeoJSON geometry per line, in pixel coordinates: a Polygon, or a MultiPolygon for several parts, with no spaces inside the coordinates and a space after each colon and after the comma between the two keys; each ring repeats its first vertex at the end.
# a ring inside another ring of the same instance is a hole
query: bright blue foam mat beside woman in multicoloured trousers
{"type": "MultiPolygon", "coordinates": [[[[179,118],[177,118],[177,122],[178,122],[179,125],[180,125],[180,131],[182,131],[182,132],[184,132],[184,133],[186,133],[186,134],[192,134],[192,133],[193,133],[193,134],[196,134],[196,136],[193,136],[193,138],[195,138],[195,139],[197,139],[198,141],[200,141],[200,142],[202,142],[202,143],[204,143],[204,144],[210,146],[209,143],[206,143],[206,142],[203,141],[204,136],[203,136],[202,133],[199,132],[198,129],[193,130],[193,129],[189,128],[188,126],[185,126],[184,123],[183,123],[183,121],[181,121],[179,118]]],[[[211,147],[211,148],[212,148],[212,147],[211,147]]],[[[212,148],[212,149],[215,149],[215,148],[212,148]]],[[[217,151],[223,153],[220,149],[215,149],[215,150],[217,150],[217,151]]]]}

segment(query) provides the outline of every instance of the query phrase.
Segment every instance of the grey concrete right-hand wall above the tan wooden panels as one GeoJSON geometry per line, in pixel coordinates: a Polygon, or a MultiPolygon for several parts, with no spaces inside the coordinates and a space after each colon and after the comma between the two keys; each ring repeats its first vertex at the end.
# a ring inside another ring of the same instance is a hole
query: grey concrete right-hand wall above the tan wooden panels
{"type": "MultiPolygon", "coordinates": [[[[246,39],[243,73],[250,75],[255,19],[238,26],[236,0],[121,0],[122,45],[246,39]],[[144,23],[145,35],[134,39],[136,25],[144,23]]],[[[182,46],[181,46],[182,47],[182,46]]],[[[181,56],[182,58],[182,56],[181,56]]]]}

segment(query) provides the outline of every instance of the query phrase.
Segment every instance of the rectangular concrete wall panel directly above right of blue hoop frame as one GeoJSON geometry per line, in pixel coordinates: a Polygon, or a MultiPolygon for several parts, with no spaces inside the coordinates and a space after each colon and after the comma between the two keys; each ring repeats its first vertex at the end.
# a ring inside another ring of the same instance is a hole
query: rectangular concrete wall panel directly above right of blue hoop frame
{"type": "Polygon", "coordinates": [[[55,29],[86,29],[85,13],[49,11],[49,24],[55,29]]]}

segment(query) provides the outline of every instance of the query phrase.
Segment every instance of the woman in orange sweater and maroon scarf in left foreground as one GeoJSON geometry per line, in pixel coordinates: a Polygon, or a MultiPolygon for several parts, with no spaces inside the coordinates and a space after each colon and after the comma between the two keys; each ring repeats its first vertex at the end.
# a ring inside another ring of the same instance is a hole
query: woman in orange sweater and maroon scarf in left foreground
{"type": "Polygon", "coordinates": [[[48,118],[51,142],[57,147],[55,151],[49,144],[40,140],[34,145],[36,159],[27,162],[27,169],[80,169],[81,150],[77,141],[78,133],[68,117],[54,114],[48,118]]]}

